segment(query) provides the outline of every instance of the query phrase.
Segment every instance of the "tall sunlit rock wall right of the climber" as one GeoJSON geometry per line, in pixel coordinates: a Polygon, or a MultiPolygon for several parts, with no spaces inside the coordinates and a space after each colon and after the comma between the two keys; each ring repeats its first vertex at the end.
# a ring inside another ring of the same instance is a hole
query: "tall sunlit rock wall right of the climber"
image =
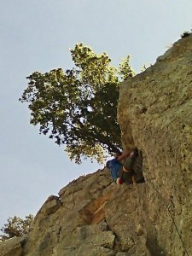
{"type": "Polygon", "coordinates": [[[149,251],[192,255],[192,36],[121,85],[118,119],[124,145],[143,152],[149,251]]]}

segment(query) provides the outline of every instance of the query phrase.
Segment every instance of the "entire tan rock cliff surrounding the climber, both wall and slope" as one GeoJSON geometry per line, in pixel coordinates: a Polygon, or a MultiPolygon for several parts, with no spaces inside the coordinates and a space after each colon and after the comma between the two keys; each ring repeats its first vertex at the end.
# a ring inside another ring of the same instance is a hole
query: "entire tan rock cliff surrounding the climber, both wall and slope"
{"type": "Polygon", "coordinates": [[[143,154],[145,183],[112,183],[108,169],[44,202],[26,237],[2,256],[192,255],[192,36],[120,86],[124,147],[143,154]]]}

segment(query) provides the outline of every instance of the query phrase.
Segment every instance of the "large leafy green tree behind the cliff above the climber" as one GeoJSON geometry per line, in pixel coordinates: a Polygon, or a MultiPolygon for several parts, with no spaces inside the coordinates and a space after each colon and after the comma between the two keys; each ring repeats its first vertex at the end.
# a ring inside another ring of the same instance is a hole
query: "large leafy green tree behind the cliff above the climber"
{"type": "Polygon", "coordinates": [[[105,52],[97,55],[84,44],[70,51],[75,67],[32,73],[20,102],[29,103],[31,124],[40,125],[40,133],[58,145],[66,145],[71,160],[80,163],[89,157],[101,163],[121,148],[116,118],[119,82],[134,75],[130,56],[117,69],[105,52]]]}

